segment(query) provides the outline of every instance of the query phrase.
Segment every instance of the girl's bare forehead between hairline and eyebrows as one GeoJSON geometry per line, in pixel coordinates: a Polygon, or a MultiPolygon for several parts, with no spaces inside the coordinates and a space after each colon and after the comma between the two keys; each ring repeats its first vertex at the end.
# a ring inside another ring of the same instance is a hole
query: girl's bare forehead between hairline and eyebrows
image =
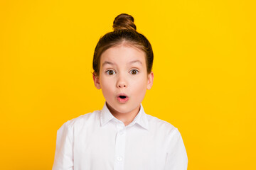
{"type": "Polygon", "coordinates": [[[144,51],[133,45],[117,45],[114,47],[110,47],[105,52],[102,53],[100,57],[100,63],[104,64],[104,62],[114,62],[117,64],[122,63],[139,63],[144,64],[146,61],[146,54],[144,51]],[[132,62],[139,61],[139,62],[132,62]]]}

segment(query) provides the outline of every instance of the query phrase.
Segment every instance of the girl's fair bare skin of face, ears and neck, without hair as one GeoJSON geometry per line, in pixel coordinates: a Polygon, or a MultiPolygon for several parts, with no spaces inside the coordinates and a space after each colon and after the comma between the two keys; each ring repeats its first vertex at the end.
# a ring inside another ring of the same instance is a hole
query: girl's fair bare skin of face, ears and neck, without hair
{"type": "Polygon", "coordinates": [[[110,47],[100,57],[100,75],[93,81],[107,102],[112,115],[124,125],[134,120],[147,89],[153,85],[153,72],[146,72],[145,52],[122,42],[110,47]],[[119,97],[127,96],[126,99],[119,97]]]}

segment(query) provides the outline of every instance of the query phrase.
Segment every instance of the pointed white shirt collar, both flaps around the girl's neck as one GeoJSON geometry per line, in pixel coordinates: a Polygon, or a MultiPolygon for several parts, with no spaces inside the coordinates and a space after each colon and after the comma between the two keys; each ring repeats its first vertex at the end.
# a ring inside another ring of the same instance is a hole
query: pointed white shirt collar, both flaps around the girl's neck
{"type": "MultiPolygon", "coordinates": [[[[104,126],[112,119],[117,120],[117,118],[115,118],[114,115],[112,115],[112,113],[110,113],[110,110],[107,108],[107,102],[105,101],[105,104],[104,104],[102,110],[100,111],[100,125],[104,126]]],[[[129,125],[134,125],[135,123],[142,126],[142,128],[149,130],[149,122],[146,118],[146,113],[144,112],[142,103],[140,104],[139,113],[136,115],[134,120],[132,120],[132,123],[130,123],[129,125]]]]}

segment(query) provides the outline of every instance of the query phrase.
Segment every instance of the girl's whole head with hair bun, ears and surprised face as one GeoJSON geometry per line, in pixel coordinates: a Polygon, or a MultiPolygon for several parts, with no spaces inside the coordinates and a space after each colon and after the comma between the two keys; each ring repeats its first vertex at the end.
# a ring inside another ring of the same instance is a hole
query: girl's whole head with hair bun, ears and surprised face
{"type": "Polygon", "coordinates": [[[133,21],[124,13],[117,16],[114,31],[100,38],[95,48],[93,80],[112,114],[138,113],[153,84],[152,48],[133,21]]]}

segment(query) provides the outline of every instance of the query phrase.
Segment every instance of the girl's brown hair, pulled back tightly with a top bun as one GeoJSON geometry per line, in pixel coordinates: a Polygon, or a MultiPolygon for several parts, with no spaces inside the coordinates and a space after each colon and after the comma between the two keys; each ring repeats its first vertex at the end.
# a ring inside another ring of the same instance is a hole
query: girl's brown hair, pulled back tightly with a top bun
{"type": "Polygon", "coordinates": [[[133,45],[145,52],[146,72],[149,74],[153,65],[153,50],[149,40],[136,31],[137,28],[134,24],[134,18],[126,13],[120,14],[114,18],[113,29],[114,31],[105,34],[97,42],[92,62],[93,74],[95,76],[100,75],[100,56],[102,53],[110,47],[122,44],[122,42],[127,42],[129,45],[133,45]]]}

